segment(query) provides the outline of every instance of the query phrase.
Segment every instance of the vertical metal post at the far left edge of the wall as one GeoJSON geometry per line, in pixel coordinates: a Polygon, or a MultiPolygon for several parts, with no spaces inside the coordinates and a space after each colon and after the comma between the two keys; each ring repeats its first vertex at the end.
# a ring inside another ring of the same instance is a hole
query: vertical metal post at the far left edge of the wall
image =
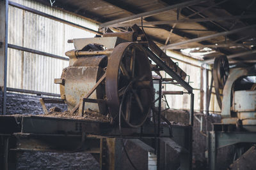
{"type": "Polygon", "coordinates": [[[3,90],[3,115],[6,115],[6,77],[8,50],[8,0],[0,0],[0,87],[3,90]]]}

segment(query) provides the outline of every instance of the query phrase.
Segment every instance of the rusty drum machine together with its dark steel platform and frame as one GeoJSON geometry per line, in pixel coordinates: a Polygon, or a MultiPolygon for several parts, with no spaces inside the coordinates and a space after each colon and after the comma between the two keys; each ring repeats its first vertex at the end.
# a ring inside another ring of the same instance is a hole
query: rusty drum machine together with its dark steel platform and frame
{"type": "Polygon", "coordinates": [[[61,78],[54,80],[60,84],[61,99],[42,98],[40,102],[45,113],[49,113],[45,103],[67,104],[69,114],[76,117],[0,116],[3,139],[0,141],[0,168],[15,164],[14,159],[8,159],[8,154],[15,152],[8,150],[33,150],[89,152],[99,160],[101,169],[121,169],[120,147],[124,147],[124,143],[121,146],[120,139],[132,138],[148,152],[152,152],[151,148],[157,151],[158,169],[161,139],[180,154],[180,169],[192,169],[194,95],[193,88],[185,81],[186,73],[137,25],[129,32],[111,32],[102,37],[69,42],[75,46],[74,50],[66,52],[69,66],[63,69],[61,78]],[[172,78],[152,79],[152,71],[160,76],[159,71],[165,71],[172,78]],[[190,94],[189,125],[172,125],[164,118],[168,124],[160,124],[162,81],[181,85],[190,94]],[[158,89],[153,82],[159,82],[158,89]],[[86,116],[88,111],[111,117],[112,121],[109,124],[97,118],[77,118],[86,116]],[[151,113],[154,114],[149,116],[151,113]],[[150,117],[155,117],[154,124],[150,117]]]}

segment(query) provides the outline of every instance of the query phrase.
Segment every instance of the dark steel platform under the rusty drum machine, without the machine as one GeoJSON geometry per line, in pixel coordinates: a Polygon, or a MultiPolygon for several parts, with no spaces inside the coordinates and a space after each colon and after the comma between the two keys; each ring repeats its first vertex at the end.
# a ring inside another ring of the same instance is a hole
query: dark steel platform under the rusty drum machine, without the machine
{"type": "MultiPolygon", "coordinates": [[[[143,128],[122,128],[122,136],[132,139],[148,152],[154,152],[154,125],[143,125],[143,128]]],[[[178,153],[187,157],[181,158],[182,167],[189,166],[188,136],[191,134],[190,125],[172,125],[173,137],[170,139],[168,126],[161,125],[157,140],[168,141],[168,145],[179,148],[178,153]],[[172,142],[170,142],[172,141],[172,142]]],[[[3,146],[0,161],[10,166],[10,159],[4,156],[11,152],[42,151],[42,152],[88,152],[92,153],[102,169],[122,169],[122,143],[118,127],[102,122],[77,120],[72,118],[52,118],[40,116],[1,116],[0,138],[8,137],[8,147],[3,146]],[[6,152],[3,152],[6,151],[6,152]],[[4,153],[4,155],[3,155],[4,153]]],[[[0,141],[1,142],[1,141],[0,141]]],[[[10,157],[9,157],[10,158],[10,157]]],[[[15,161],[15,160],[13,160],[15,161]]],[[[12,162],[15,164],[15,162],[12,162]]],[[[4,164],[0,164],[3,169],[4,164]]],[[[182,169],[182,168],[181,168],[182,169]]],[[[183,168],[185,170],[188,168],[183,168]]]]}

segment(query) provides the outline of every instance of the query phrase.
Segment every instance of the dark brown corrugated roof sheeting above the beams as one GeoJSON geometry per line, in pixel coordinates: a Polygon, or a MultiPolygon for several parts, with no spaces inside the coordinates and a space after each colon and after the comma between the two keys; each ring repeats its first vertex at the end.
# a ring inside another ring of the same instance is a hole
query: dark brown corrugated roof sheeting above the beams
{"type": "MultiPolygon", "coordinates": [[[[36,0],[40,3],[51,6],[49,1],[36,0]]],[[[87,17],[98,24],[109,22],[120,18],[129,17],[138,13],[154,11],[172,6],[179,3],[189,1],[167,1],[167,0],[62,0],[56,1],[53,8],[65,10],[82,17],[87,17]]],[[[179,9],[164,11],[157,15],[144,17],[143,22],[152,21],[170,21],[195,19],[195,18],[216,18],[216,17],[234,17],[234,16],[256,16],[256,3],[253,0],[216,0],[216,1],[200,1],[200,3],[182,6],[179,9]],[[194,14],[194,15],[193,15],[194,14]],[[195,15],[196,14],[196,15],[195,15]],[[193,15],[193,16],[191,16],[193,15]]],[[[132,22],[141,22],[141,19],[132,20],[132,22]]],[[[241,27],[256,24],[255,17],[236,18],[229,20],[209,20],[207,22],[179,22],[177,24],[147,25],[144,27],[145,32],[149,34],[154,41],[163,46],[166,39],[170,36],[168,44],[186,41],[188,39],[198,38],[216,34],[223,31],[232,31],[241,27]],[[172,34],[170,31],[173,29],[172,34]]],[[[118,27],[115,27],[118,29],[118,27]]],[[[125,29],[125,27],[122,27],[125,29]]],[[[254,29],[246,29],[244,31],[228,34],[227,36],[217,36],[204,41],[186,43],[184,45],[172,47],[173,50],[180,51],[182,48],[198,47],[200,50],[210,45],[212,52],[204,53],[204,60],[212,59],[212,57],[225,54],[253,52],[256,45],[256,33],[254,29]],[[215,45],[215,46],[214,46],[215,45]]],[[[196,48],[197,49],[197,48],[196,48]]],[[[190,53],[193,53],[191,50],[190,53]]],[[[196,51],[198,53],[198,50],[196,51]]],[[[193,55],[191,55],[193,56],[193,55]]],[[[255,60],[254,55],[239,56],[230,60],[255,60]]],[[[256,62],[256,60],[255,60],[256,62]]]]}

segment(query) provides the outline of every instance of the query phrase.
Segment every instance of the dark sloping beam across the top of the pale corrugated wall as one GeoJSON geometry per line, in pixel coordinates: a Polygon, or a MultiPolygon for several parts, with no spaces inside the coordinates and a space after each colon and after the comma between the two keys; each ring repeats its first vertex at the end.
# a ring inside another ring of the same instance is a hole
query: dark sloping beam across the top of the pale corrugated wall
{"type": "Polygon", "coordinates": [[[90,29],[90,28],[88,28],[88,27],[84,27],[84,26],[82,26],[82,25],[78,25],[78,24],[75,24],[75,23],[73,23],[73,22],[69,22],[69,21],[67,21],[67,20],[63,20],[63,19],[58,18],[58,17],[54,17],[53,15],[49,15],[49,14],[44,13],[44,12],[42,12],[42,11],[38,11],[38,10],[35,10],[35,9],[33,9],[33,8],[29,8],[28,6],[24,6],[24,5],[22,5],[22,4],[14,3],[14,2],[12,2],[12,1],[9,1],[9,4],[10,4],[10,6],[14,6],[14,7],[19,8],[19,9],[21,9],[21,10],[25,10],[25,11],[29,11],[29,12],[31,12],[31,13],[35,13],[36,15],[40,15],[40,16],[45,17],[45,18],[50,18],[50,19],[52,19],[52,20],[56,20],[56,21],[61,22],[61,23],[63,23],[63,24],[71,25],[71,26],[73,26],[73,27],[77,27],[77,28],[79,28],[79,29],[83,29],[83,30],[85,30],[85,31],[89,31],[89,32],[92,32],[92,33],[94,33],[94,34],[102,34],[102,32],[95,31],[95,30],[90,29]]]}

